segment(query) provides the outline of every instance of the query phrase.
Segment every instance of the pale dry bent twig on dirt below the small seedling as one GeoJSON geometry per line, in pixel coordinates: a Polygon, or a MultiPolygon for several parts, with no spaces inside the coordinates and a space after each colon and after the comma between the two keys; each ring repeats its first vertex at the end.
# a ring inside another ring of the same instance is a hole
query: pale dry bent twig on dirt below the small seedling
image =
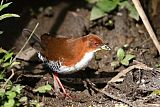
{"type": "Polygon", "coordinates": [[[126,73],[128,73],[129,71],[133,70],[133,69],[144,69],[144,70],[153,70],[153,68],[150,68],[148,67],[147,65],[141,63],[141,62],[138,62],[138,61],[134,61],[136,62],[137,64],[136,65],[132,65],[124,70],[122,70],[121,72],[119,72],[115,77],[113,77],[110,81],[108,81],[108,83],[111,83],[111,82],[117,82],[117,80],[120,79],[120,77],[122,76],[125,76],[126,73]]]}

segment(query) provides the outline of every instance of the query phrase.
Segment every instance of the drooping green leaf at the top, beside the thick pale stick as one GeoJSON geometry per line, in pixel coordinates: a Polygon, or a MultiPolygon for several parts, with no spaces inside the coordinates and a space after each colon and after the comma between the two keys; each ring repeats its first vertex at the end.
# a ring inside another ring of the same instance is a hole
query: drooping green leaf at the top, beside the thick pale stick
{"type": "Polygon", "coordinates": [[[131,5],[128,1],[123,1],[121,3],[119,3],[120,8],[126,8],[129,10],[129,16],[131,18],[134,18],[135,20],[139,20],[139,14],[136,10],[136,8],[134,7],[134,5],[131,5]]]}

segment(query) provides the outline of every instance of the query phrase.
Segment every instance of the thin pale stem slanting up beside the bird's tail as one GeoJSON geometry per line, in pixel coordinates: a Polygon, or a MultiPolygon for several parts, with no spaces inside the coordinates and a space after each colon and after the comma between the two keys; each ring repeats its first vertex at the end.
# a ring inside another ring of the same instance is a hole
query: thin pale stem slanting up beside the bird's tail
{"type": "Polygon", "coordinates": [[[29,38],[27,39],[27,41],[25,42],[25,44],[23,45],[23,47],[21,48],[21,50],[17,53],[17,55],[14,57],[13,61],[14,62],[16,60],[16,58],[19,56],[19,54],[23,51],[23,49],[25,48],[25,46],[27,45],[27,43],[29,42],[29,40],[31,39],[31,37],[33,36],[35,30],[37,29],[39,23],[36,24],[35,28],[33,29],[32,33],[30,34],[29,38]]]}

